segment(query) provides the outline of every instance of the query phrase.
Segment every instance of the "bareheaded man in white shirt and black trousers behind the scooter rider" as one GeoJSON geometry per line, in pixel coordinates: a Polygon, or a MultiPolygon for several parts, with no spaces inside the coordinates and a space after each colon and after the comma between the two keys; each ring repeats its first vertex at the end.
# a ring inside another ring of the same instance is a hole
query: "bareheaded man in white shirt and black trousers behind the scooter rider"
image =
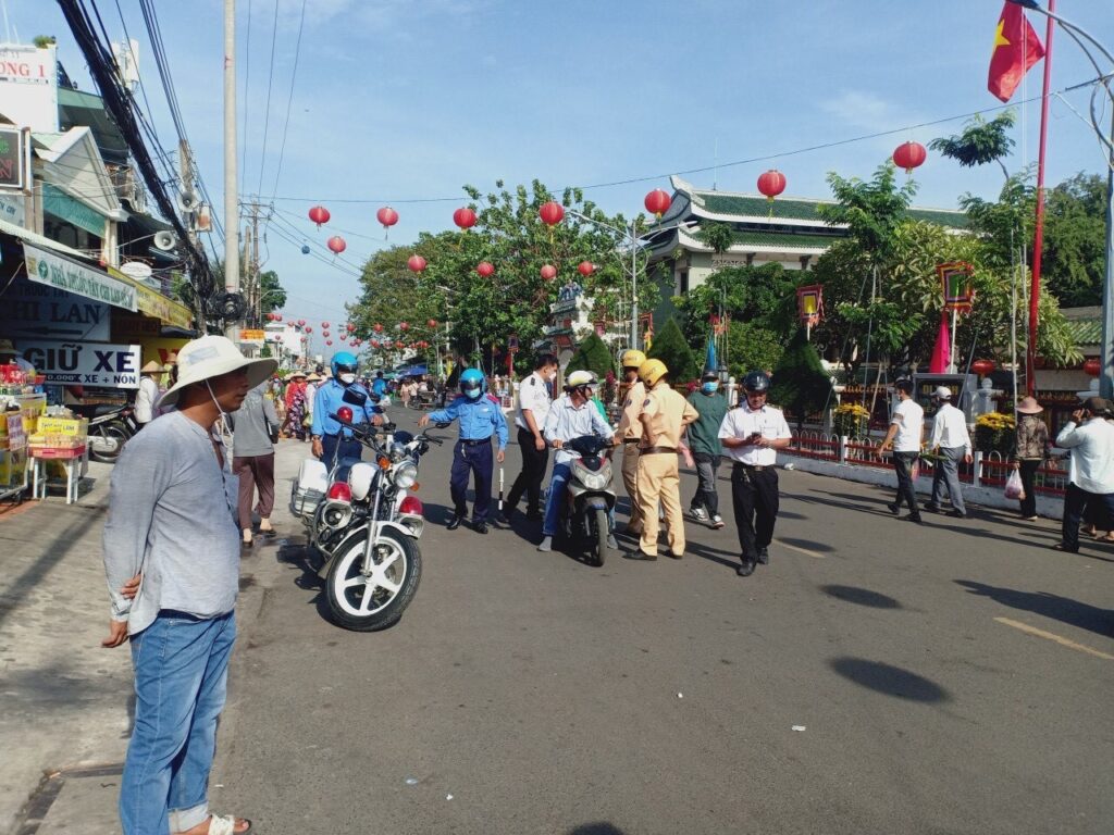
{"type": "Polygon", "coordinates": [[[515,415],[515,428],[518,434],[518,449],[522,453],[522,469],[510,485],[507,502],[504,505],[499,522],[507,524],[518,507],[524,493],[526,495],[526,518],[541,519],[541,481],[546,478],[549,466],[549,446],[546,444],[543,430],[546,416],[553,404],[550,386],[557,376],[557,357],[553,354],[539,354],[534,362],[534,371],[518,386],[518,414],[515,415]]]}

